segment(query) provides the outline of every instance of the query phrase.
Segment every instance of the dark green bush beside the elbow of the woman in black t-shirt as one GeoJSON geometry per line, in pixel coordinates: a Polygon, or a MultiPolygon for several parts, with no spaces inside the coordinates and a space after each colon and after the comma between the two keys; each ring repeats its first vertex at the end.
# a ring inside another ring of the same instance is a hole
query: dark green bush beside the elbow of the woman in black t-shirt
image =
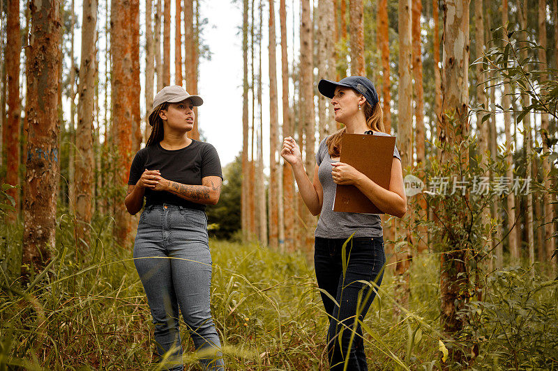
{"type": "Polygon", "coordinates": [[[231,239],[241,228],[241,189],[242,189],[242,157],[237,156],[234,161],[223,169],[223,187],[217,205],[206,209],[210,226],[209,235],[219,239],[231,239]]]}

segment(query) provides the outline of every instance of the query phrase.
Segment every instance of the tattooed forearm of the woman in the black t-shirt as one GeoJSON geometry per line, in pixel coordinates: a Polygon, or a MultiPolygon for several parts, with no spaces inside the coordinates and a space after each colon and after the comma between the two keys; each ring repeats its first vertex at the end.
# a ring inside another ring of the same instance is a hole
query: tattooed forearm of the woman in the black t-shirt
{"type": "Polygon", "coordinates": [[[156,191],[167,191],[193,203],[216,205],[221,194],[221,178],[202,177],[202,185],[182,184],[160,177],[156,191]]]}

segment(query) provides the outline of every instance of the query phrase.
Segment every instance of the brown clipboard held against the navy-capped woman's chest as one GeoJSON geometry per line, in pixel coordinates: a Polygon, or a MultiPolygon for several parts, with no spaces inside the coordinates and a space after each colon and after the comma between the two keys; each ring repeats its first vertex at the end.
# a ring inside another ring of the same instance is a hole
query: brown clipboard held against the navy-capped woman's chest
{"type": "MultiPolygon", "coordinates": [[[[356,168],[384,189],[389,189],[395,136],[343,134],[339,161],[356,168]]],[[[335,212],[384,214],[354,185],[337,184],[335,212]]]]}

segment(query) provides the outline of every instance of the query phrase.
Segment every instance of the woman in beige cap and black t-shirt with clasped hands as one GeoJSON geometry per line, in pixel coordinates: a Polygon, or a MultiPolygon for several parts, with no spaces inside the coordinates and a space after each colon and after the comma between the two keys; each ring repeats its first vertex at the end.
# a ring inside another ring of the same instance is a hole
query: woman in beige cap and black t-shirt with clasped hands
{"type": "Polygon", "coordinates": [[[205,205],[219,200],[221,165],[213,145],[188,138],[194,106],[204,101],[181,86],[167,86],[153,99],[145,148],[130,168],[126,209],[146,205],[134,245],[134,263],[147,294],[157,352],[167,370],[183,370],[180,317],[204,370],[223,370],[220,341],[209,310],[211,254],[205,205]],[[207,352],[206,352],[207,351],[207,352]]]}

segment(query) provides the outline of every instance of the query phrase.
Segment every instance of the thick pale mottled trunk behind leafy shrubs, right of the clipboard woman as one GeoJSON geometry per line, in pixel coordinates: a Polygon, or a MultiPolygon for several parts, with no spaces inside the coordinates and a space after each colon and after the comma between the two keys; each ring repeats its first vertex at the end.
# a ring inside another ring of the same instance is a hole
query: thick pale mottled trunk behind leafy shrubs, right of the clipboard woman
{"type": "MultiPolygon", "coordinates": [[[[446,145],[455,145],[469,135],[467,121],[468,68],[469,68],[469,1],[444,1],[444,36],[442,63],[442,130],[439,141],[442,144],[440,161],[461,161],[466,167],[469,153],[465,150],[461,156],[448,152],[446,145]],[[458,45],[458,47],[456,47],[458,45]],[[451,120],[450,118],[453,119],[451,120]]],[[[467,196],[465,196],[467,197],[467,196]]],[[[465,210],[459,210],[458,223],[466,223],[465,210]]],[[[458,228],[461,228],[458,226],[458,228]]],[[[442,297],[442,330],[447,338],[460,335],[463,319],[458,310],[467,303],[469,278],[467,276],[467,246],[455,233],[447,231],[444,235],[446,244],[441,256],[440,294],[442,297]]],[[[451,361],[462,361],[462,352],[457,346],[451,347],[451,361]]]]}

